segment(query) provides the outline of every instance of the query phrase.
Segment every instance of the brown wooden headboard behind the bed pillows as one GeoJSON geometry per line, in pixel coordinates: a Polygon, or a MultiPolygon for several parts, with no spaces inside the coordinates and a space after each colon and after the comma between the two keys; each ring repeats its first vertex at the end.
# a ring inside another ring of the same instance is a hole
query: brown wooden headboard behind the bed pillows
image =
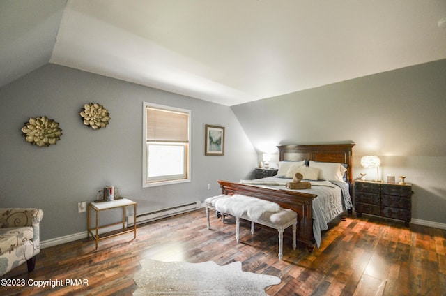
{"type": "Polygon", "coordinates": [[[328,145],[279,145],[279,161],[324,161],[328,163],[346,163],[346,182],[353,196],[353,146],[350,144],[328,145]]]}

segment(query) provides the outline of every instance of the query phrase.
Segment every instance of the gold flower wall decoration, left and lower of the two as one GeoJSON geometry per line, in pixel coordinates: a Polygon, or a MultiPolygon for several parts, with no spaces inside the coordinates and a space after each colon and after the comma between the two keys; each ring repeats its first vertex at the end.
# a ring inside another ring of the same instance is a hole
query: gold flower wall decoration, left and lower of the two
{"type": "Polygon", "coordinates": [[[25,122],[22,132],[26,142],[38,147],[56,144],[62,135],[59,123],[46,116],[30,118],[29,122],[25,122]]]}

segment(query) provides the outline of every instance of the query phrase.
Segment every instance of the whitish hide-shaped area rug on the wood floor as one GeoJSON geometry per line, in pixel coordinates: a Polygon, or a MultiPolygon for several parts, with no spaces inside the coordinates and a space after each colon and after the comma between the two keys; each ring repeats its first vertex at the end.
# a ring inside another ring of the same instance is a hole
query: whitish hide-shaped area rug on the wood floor
{"type": "Polygon", "coordinates": [[[277,276],[243,272],[241,262],[220,266],[144,259],[141,265],[133,295],[267,295],[266,287],[280,283],[277,276]]]}

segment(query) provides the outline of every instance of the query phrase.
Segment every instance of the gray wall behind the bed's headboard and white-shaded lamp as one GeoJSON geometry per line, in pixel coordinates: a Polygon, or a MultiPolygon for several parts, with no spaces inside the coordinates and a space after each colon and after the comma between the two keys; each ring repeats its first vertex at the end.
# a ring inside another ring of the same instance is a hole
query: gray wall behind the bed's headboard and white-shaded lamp
{"type": "MultiPolygon", "coordinates": [[[[259,154],[265,145],[355,142],[380,175],[413,184],[413,218],[446,223],[446,60],[232,107],[259,154]]],[[[276,159],[277,161],[277,156],[276,159]]],[[[260,161],[260,157],[259,157],[260,161]]]]}

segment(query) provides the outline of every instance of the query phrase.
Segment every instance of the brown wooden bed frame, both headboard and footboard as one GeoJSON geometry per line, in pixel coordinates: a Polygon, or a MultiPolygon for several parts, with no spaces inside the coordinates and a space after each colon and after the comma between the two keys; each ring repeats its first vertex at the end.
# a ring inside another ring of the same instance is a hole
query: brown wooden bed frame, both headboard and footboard
{"type": "MultiPolygon", "coordinates": [[[[279,161],[324,161],[330,163],[346,163],[346,182],[349,185],[350,196],[353,196],[353,155],[354,143],[330,144],[330,145],[280,145],[279,161]]],[[[307,245],[311,252],[314,249],[313,236],[313,199],[315,194],[302,193],[298,191],[287,191],[275,188],[262,188],[250,184],[240,184],[219,180],[222,194],[243,194],[269,200],[278,203],[281,207],[292,209],[298,213],[298,241],[307,245]]],[[[348,210],[351,214],[351,209],[348,210]]]]}

